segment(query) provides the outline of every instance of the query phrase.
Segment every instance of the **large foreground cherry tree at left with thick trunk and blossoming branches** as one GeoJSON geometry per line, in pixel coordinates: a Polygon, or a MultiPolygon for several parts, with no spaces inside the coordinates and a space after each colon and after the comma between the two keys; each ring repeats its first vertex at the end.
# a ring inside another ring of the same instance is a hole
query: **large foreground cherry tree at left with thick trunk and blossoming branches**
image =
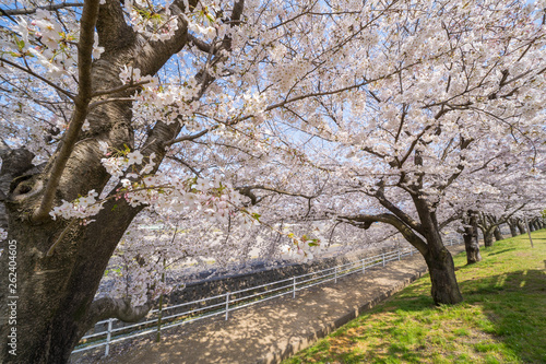
{"type": "MultiPolygon", "coordinates": [[[[16,259],[2,254],[0,270],[8,286],[9,262],[16,260],[19,297],[17,355],[10,354],[15,348],[7,345],[10,327],[2,325],[2,361],[64,362],[96,320],[145,315],[163,289],[143,286],[141,279],[133,280],[139,294],[94,300],[109,258],[144,208],[152,207],[153,214],[176,211],[193,223],[214,221],[228,232],[233,224],[258,221],[260,214],[241,204],[239,191],[252,204],[252,189],[278,190],[274,179],[265,185],[249,177],[237,189],[226,180],[266,163],[269,150],[285,153],[284,162],[299,157],[281,142],[270,143],[260,129],[265,113],[282,106],[271,97],[275,90],[257,86],[261,71],[280,72],[284,83],[293,80],[297,63],[282,68],[271,59],[284,57],[301,36],[309,46],[328,39],[323,27],[314,37],[306,35],[301,25],[309,19],[351,35],[361,28],[346,32],[346,23],[336,24],[334,16],[363,13],[372,24],[391,7],[2,3],[0,233],[4,253],[16,245],[16,259]]],[[[332,45],[324,57],[341,47],[332,45]]],[[[316,240],[301,238],[300,246],[289,238],[296,250],[309,253],[316,240]]],[[[127,261],[136,262],[133,277],[143,275],[141,258],[127,261]]],[[[1,298],[10,300],[5,291],[1,298]]]]}

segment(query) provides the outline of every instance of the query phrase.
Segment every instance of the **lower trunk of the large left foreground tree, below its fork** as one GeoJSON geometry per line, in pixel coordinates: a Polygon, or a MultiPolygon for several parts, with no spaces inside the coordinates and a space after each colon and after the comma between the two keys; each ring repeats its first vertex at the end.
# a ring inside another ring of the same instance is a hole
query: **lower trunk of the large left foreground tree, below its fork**
{"type": "MultiPolygon", "coordinates": [[[[68,361],[72,349],[90,328],[83,318],[93,293],[136,213],[129,208],[120,209],[120,201],[117,204],[115,212],[98,215],[97,221],[87,226],[61,226],[68,228],[69,237],[51,257],[45,256],[43,242],[52,243],[60,234],[60,225],[66,224],[45,224],[37,228],[26,222],[10,221],[9,238],[17,246],[17,298],[8,297],[8,302],[16,302],[16,325],[4,329],[16,328],[16,356],[2,352],[3,363],[68,361]],[[88,258],[82,259],[85,256],[88,258]],[[36,319],[36,313],[41,319],[36,319]]],[[[114,202],[106,208],[111,210],[112,206],[114,202]]],[[[2,274],[8,275],[3,269],[2,274]]],[[[8,322],[5,317],[2,317],[2,322],[8,322]]],[[[2,338],[7,337],[4,329],[2,338]]],[[[10,349],[13,347],[7,345],[3,339],[2,351],[10,349]]]]}

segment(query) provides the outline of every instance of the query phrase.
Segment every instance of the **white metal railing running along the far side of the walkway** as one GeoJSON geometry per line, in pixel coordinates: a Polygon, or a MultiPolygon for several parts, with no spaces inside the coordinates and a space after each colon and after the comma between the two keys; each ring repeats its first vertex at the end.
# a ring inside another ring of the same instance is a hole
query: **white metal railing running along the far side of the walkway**
{"type": "MultiPolygon", "coordinates": [[[[462,239],[450,238],[448,246],[461,244],[462,239]]],[[[105,355],[108,355],[110,344],[120,342],[127,339],[132,339],[147,333],[159,332],[161,330],[189,324],[203,318],[225,315],[225,319],[229,318],[229,313],[254,305],[260,302],[281,297],[292,294],[296,297],[296,292],[317,284],[334,281],[337,279],[361,272],[365,273],[367,268],[381,266],[384,267],[388,262],[401,260],[403,257],[413,256],[417,249],[414,247],[393,249],[385,251],[373,257],[366,257],[360,260],[335,266],[332,268],[322,269],[316,272],[310,272],[300,275],[294,275],[284,280],[275,281],[272,283],[251,286],[248,289],[238,290],[235,292],[226,292],[221,295],[205,297],[192,302],[171,305],[159,309],[153,309],[149,314],[145,321],[126,326],[123,321],[115,318],[98,321],[95,324],[94,332],[84,336],[79,345],[72,353],[78,353],[99,347],[105,347],[105,355]],[[187,309],[183,307],[189,306],[187,309]],[[169,312],[170,310],[170,312],[169,312]],[[165,313],[167,316],[163,316],[165,313]],[[162,321],[158,327],[158,314],[162,316],[162,321]],[[95,332],[103,328],[102,331],[95,332]]]]}

